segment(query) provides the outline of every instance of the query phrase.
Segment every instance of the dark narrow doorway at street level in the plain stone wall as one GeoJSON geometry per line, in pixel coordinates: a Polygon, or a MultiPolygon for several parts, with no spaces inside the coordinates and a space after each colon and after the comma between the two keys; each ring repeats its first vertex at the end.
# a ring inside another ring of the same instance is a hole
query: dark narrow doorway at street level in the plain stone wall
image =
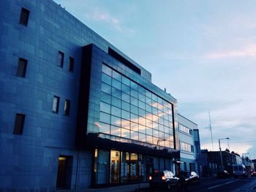
{"type": "Polygon", "coordinates": [[[72,173],[72,157],[59,156],[58,174],[56,187],[69,189],[72,173]]]}

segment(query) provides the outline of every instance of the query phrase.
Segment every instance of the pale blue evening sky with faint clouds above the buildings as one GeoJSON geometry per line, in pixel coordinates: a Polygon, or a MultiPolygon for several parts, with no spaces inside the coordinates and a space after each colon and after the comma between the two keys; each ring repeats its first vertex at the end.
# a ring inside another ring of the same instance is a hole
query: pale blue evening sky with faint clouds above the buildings
{"type": "Polygon", "coordinates": [[[151,72],[201,149],[256,158],[256,1],[54,1],[151,72]]]}

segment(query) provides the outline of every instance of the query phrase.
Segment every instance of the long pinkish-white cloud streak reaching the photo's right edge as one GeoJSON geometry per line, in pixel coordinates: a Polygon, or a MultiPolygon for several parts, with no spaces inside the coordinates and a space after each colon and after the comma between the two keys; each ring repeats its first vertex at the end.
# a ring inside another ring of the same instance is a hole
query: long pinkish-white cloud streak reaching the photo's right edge
{"type": "Polygon", "coordinates": [[[247,45],[236,50],[222,50],[208,53],[203,58],[220,59],[220,58],[255,58],[256,44],[247,45]]]}

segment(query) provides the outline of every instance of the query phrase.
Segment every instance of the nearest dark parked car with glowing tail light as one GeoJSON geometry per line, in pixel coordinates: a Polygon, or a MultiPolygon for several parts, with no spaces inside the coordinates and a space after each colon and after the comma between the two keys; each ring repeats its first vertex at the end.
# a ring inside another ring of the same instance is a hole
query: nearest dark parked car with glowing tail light
{"type": "Polygon", "coordinates": [[[164,187],[167,189],[171,189],[174,187],[179,187],[180,181],[179,178],[176,177],[173,172],[170,171],[154,171],[150,176],[149,176],[149,185],[151,188],[154,187],[164,187]]]}

